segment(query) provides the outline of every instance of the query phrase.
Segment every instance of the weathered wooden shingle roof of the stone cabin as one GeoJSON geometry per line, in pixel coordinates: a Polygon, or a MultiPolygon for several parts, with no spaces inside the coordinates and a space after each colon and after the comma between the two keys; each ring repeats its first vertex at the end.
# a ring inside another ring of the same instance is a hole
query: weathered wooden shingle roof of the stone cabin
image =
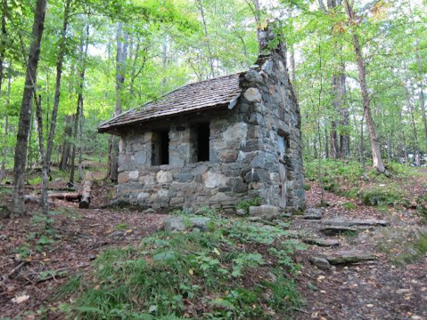
{"type": "Polygon", "coordinates": [[[173,92],[115,116],[98,126],[98,132],[146,121],[157,120],[205,108],[224,106],[240,96],[239,76],[242,72],[186,84],[173,92]]]}

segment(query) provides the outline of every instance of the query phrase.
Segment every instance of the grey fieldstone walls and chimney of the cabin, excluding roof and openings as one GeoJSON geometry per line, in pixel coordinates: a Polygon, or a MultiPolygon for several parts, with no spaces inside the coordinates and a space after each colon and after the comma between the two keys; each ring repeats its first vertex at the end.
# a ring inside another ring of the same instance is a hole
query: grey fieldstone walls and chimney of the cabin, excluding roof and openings
{"type": "Polygon", "coordinates": [[[168,129],[169,164],[152,165],[160,123],[144,130],[122,130],[119,145],[119,200],[153,209],[169,207],[234,208],[259,196],[279,205],[278,137],[286,141],[287,206],[302,208],[300,110],[286,69],[283,44],[267,43],[260,33],[259,60],[240,75],[242,94],[229,108],[174,116],[168,129]],[[263,44],[264,43],[264,44],[263,44]],[[196,124],[209,123],[209,161],[195,162],[196,124]]]}

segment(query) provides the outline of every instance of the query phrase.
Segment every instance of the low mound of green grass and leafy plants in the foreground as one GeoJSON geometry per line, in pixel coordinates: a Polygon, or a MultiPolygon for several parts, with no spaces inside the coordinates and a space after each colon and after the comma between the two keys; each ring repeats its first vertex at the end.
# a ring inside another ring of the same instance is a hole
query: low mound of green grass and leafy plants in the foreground
{"type": "Polygon", "coordinates": [[[217,220],[211,232],[163,232],[103,252],[64,309],[79,319],[289,316],[301,304],[291,258],[299,248],[283,229],[267,227],[217,220]]]}

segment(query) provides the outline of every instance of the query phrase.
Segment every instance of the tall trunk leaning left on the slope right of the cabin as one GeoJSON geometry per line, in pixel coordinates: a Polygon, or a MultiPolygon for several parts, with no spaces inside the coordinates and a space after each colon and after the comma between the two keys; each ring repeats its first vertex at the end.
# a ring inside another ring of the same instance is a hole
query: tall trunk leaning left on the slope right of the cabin
{"type": "MultiPolygon", "coordinates": [[[[346,4],[347,4],[347,13],[349,15],[349,20],[352,23],[355,21],[354,12],[349,5],[349,0],[346,0],[346,4]]],[[[366,124],[367,124],[369,135],[370,135],[374,168],[377,170],[378,173],[383,173],[386,176],[390,176],[390,172],[388,172],[385,169],[384,163],[382,162],[380,144],[378,141],[378,136],[376,134],[374,119],[372,117],[372,112],[370,107],[371,99],[369,98],[369,92],[367,90],[365,60],[363,58],[362,48],[360,46],[359,39],[356,33],[353,33],[352,40],[353,40],[353,46],[355,49],[356,60],[357,60],[357,71],[358,71],[358,77],[360,82],[360,90],[362,92],[364,115],[365,115],[366,124]]]]}

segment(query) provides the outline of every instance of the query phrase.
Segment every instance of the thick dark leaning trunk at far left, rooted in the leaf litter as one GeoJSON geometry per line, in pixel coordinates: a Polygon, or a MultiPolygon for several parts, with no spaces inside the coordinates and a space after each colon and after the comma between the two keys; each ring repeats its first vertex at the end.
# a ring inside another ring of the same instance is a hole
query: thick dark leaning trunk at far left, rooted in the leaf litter
{"type": "Polygon", "coordinates": [[[27,164],[27,151],[29,141],[29,128],[31,122],[31,100],[36,89],[37,67],[40,58],[40,45],[45,28],[46,0],[37,0],[34,23],[32,30],[32,42],[29,47],[29,58],[25,76],[25,88],[22,96],[20,122],[18,125],[17,141],[14,156],[14,196],[12,205],[13,215],[25,213],[23,185],[25,180],[25,167],[27,164]]]}

